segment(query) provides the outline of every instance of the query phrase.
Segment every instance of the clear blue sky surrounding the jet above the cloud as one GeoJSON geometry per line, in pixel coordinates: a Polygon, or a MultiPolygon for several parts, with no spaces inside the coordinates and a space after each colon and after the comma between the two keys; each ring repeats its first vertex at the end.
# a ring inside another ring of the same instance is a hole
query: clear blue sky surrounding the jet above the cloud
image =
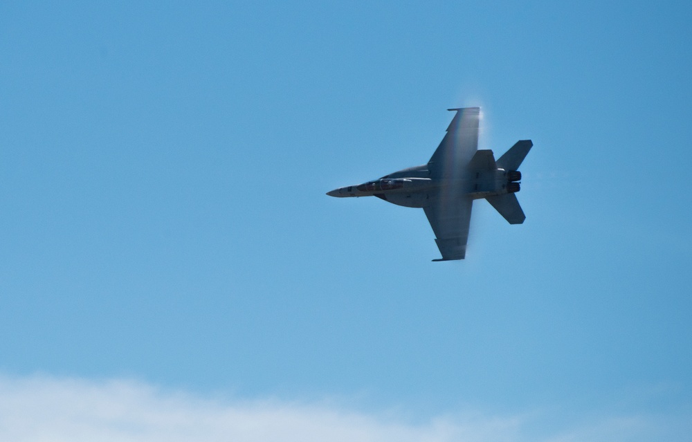
{"type": "MultiPolygon", "coordinates": [[[[689,440],[691,21],[684,2],[3,3],[2,388],[538,413],[516,440],[656,416],[689,440]],[[422,210],[325,196],[426,163],[463,106],[481,148],[534,141],[523,225],[479,201],[467,259],[432,263],[422,210]]],[[[482,439],[462,433],[439,440],[482,439]]]]}

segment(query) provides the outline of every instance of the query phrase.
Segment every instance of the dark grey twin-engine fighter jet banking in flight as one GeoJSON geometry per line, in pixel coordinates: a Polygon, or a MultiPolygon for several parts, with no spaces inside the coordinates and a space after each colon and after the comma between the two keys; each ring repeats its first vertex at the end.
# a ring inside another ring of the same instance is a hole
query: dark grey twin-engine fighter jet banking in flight
{"type": "Polygon", "coordinates": [[[442,257],[466,257],[473,200],[486,199],[510,224],[526,219],[516,198],[519,165],[534,145],[520,140],[495,160],[493,151],[478,150],[480,108],[448,109],[455,116],[428,164],[394,172],[367,183],[339,187],[329,196],[376,196],[392,204],[422,208],[435,232],[442,257]]]}

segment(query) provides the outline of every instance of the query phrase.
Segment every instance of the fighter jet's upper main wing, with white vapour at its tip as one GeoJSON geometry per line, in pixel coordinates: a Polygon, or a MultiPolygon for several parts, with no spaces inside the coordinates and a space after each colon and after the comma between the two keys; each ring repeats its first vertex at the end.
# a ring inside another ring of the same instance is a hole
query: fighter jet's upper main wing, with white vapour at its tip
{"type": "Polygon", "coordinates": [[[430,178],[457,179],[478,149],[479,107],[448,109],[457,111],[435,154],[428,161],[430,178]]]}

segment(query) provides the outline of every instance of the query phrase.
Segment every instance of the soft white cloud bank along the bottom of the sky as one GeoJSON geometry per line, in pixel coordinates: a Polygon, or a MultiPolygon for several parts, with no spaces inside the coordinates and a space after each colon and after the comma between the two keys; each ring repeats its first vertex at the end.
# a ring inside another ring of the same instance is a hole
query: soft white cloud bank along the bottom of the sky
{"type": "Polygon", "coordinates": [[[689,440],[675,436],[691,434],[686,422],[689,419],[604,418],[549,437],[532,437],[531,432],[545,434],[536,432],[536,414],[459,413],[410,423],[392,413],[277,400],[224,402],[132,381],[0,378],[0,441],[15,442],[572,442],[663,435],[671,441],[689,440]],[[677,433],[669,432],[670,425],[677,426],[677,433]]]}

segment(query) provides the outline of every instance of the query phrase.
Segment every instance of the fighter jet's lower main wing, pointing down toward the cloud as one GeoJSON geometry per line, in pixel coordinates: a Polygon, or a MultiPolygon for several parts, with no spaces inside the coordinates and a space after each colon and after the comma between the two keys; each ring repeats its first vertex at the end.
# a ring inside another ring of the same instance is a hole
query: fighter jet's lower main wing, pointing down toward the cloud
{"type": "Polygon", "coordinates": [[[456,201],[448,204],[442,203],[438,194],[430,206],[423,208],[432,231],[435,232],[435,242],[442,255],[441,259],[432,261],[464,259],[472,205],[473,200],[468,196],[459,196],[456,201]]]}

